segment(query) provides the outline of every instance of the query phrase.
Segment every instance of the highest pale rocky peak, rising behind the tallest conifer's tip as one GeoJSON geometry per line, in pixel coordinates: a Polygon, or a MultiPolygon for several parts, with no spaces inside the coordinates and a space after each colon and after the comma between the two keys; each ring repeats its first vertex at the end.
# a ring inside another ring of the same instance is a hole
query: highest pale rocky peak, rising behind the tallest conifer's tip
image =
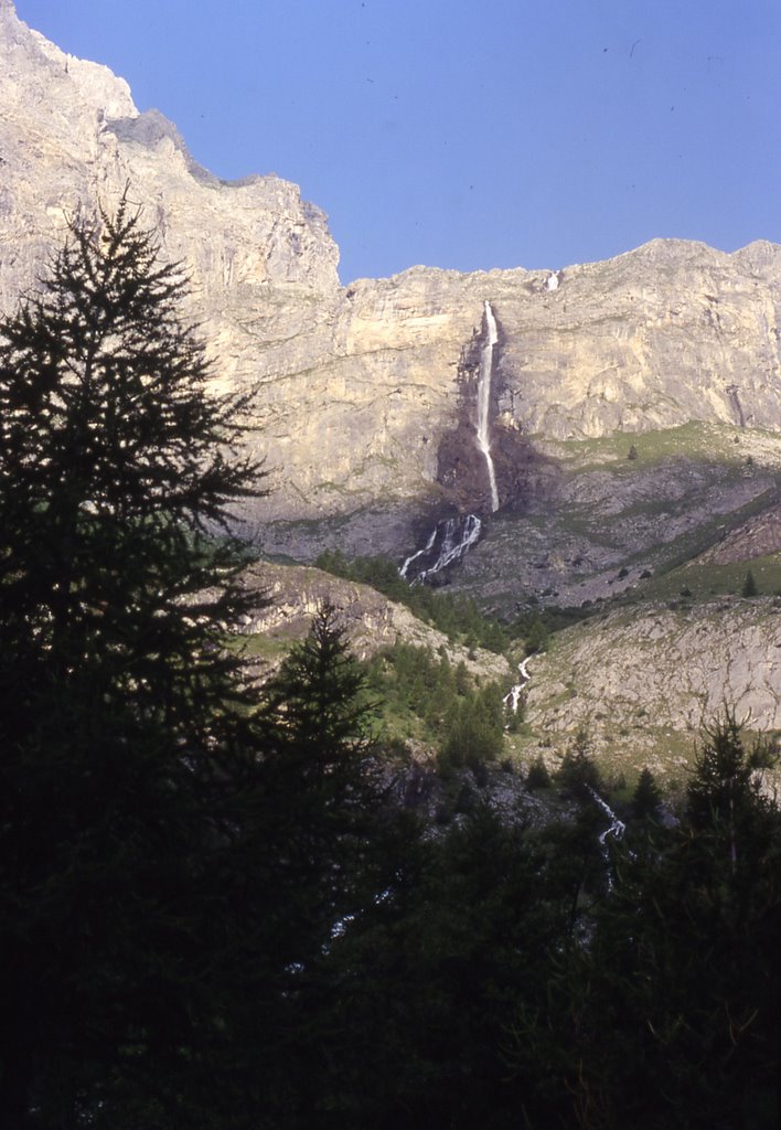
{"type": "Polygon", "coordinates": [[[264,305],[269,288],[338,287],[326,217],[296,185],[276,176],[218,181],[162,114],[139,114],[123,79],[64,54],[23,24],[9,0],[0,6],[0,106],[2,308],[62,242],[67,216],[111,208],[125,185],[163,255],[186,264],[192,314],[206,320],[212,341],[233,311],[264,305]]]}

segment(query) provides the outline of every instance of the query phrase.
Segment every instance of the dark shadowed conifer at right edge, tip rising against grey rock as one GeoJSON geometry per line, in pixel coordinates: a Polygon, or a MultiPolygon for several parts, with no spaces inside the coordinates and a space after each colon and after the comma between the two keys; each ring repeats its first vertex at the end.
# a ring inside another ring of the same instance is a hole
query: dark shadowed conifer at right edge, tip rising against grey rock
{"type": "Polygon", "coordinates": [[[593,1125],[778,1123],[781,817],[755,773],[772,756],[732,715],[706,730],[680,823],[634,842],[597,907],[573,1070],[593,1125]]]}

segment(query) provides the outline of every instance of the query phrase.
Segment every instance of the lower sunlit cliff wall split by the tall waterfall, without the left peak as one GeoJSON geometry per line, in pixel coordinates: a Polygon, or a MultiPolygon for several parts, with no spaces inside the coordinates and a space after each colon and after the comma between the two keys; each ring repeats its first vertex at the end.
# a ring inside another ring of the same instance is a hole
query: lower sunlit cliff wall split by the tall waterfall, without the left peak
{"type": "Polygon", "coordinates": [[[658,241],[569,268],[554,292],[546,272],[521,269],[413,268],[352,284],[262,350],[263,443],[280,472],[266,516],[413,501],[485,512],[475,428],[485,301],[500,329],[491,418],[503,507],[555,480],[549,461],[531,458],[538,438],[692,419],[776,433],[781,253],[761,251],[658,241]]]}

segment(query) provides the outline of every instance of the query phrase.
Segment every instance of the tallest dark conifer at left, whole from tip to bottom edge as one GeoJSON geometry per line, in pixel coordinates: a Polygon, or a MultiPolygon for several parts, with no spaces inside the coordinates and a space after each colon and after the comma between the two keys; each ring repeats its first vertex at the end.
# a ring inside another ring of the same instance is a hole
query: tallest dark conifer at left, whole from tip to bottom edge
{"type": "Polygon", "coordinates": [[[207,390],[185,289],[125,194],[71,223],[0,323],[8,1130],[121,1124],[109,1090],[157,1072],[163,1093],[224,1005],[255,762],[222,646],[244,599],[226,528],[260,469],[235,450],[246,403],[207,390]]]}

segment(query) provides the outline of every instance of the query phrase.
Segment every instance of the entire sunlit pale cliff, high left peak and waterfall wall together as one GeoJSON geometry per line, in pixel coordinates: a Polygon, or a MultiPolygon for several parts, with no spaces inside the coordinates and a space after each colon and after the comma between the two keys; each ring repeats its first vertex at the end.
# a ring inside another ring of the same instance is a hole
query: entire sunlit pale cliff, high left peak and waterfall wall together
{"type": "Polygon", "coordinates": [[[486,510],[469,366],[498,328],[489,431],[503,508],[556,490],[537,441],[689,419],[781,429],[781,247],[653,241],[614,260],[469,275],[422,267],[342,288],[326,218],[274,176],[226,184],[127,84],[66,55],[0,0],[0,308],[66,216],[125,185],[192,276],[216,381],[257,392],[267,547],[408,553],[445,510],[486,510]],[[466,374],[466,375],[465,375],[466,374]]]}

